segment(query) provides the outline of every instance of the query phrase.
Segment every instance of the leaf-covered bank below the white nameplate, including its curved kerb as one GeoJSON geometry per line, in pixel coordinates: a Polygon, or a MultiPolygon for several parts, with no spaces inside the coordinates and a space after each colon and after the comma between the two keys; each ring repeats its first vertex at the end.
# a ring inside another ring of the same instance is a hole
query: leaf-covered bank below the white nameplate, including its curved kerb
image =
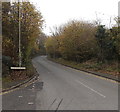
{"type": "Polygon", "coordinates": [[[38,73],[31,63],[26,70],[11,70],[9,74],[2,77],[2,91],[6,92],[18,88],[28,82],[32,82],[38,78],[38,73]]]}

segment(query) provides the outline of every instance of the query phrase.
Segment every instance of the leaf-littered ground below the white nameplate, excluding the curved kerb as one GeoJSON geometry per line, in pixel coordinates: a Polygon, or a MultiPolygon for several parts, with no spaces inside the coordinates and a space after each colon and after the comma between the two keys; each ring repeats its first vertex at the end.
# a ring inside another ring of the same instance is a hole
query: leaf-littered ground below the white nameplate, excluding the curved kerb
{"type": "MultiPolygon", "coordinates": [[[[4,68],[3,68],[4,69],[4,68]]],[[[31,78],[36,74],[36,70],[32,63],[29,63],[26,70],[10,70],[7,74],[2,76],[2,89],[7,89],[15,86],[25,80],[31,78]]]]}

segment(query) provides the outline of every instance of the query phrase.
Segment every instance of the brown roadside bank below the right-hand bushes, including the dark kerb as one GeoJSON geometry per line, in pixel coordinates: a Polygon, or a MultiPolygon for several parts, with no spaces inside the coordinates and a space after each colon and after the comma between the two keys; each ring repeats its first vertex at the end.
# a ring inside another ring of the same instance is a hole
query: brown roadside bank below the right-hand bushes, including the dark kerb
{"type": "Polygon", "coordinates": [[[119,80],[120,73],[117,63],[109,65],[109,64],[98,64],[95,61],[91,61],[91,60],[86,61],[84,63],[76,63],[73,61],[66,61],[62,58],[56,58],[56,59],[48,58],[48,59],[80,71],[84,71],[97,76],[115,80],[117,82],[120,81],[119,80]]]}

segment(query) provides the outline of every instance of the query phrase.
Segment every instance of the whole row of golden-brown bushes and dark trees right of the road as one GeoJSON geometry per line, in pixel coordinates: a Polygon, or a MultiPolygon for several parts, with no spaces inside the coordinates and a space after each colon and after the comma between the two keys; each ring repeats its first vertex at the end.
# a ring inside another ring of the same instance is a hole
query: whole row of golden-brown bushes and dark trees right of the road
{"type": "Polygon", "coordinates": [[[70,21],[46,40],[46,51],[52,58],[84,62],[96,58],[98,62],[117,60],[120,56],[118,27],[111,29],[85,21],[70,21]]]}

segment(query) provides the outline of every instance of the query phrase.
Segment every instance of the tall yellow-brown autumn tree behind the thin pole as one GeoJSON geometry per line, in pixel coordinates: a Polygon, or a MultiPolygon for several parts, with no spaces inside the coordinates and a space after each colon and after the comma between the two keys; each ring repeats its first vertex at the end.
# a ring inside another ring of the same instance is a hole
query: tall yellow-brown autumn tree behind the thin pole
{"type": "Polygon", "coordinates": [[[42,32],[41,13],[30,2],[2,4],[3,54],[10,56],[18,64],[19,21],[21,22],[22,62],[27,64],[36,39],[42,32]],[[19,18],[20,10],[20,18],[19,18]]]}

